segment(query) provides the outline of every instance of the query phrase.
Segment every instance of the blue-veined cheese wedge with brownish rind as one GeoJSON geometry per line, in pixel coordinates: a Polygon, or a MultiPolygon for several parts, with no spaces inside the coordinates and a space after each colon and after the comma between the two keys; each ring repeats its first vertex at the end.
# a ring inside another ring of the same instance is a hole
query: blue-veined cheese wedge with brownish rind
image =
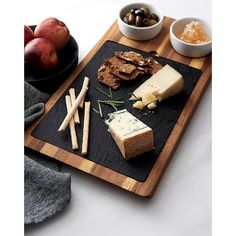
{"type": "Polygon", "coordinates": [[[126,109],[109,114],[108,131],[126,160],[153,150],[153,132],[126,109]]]}

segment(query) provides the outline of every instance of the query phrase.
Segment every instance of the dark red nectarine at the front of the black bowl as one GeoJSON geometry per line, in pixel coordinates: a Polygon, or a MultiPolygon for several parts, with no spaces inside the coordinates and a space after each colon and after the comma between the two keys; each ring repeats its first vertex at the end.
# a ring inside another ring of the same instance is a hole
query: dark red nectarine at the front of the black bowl
{"type": "Polygon", "coordinates": [[[35,38],[25,46],[25,64],[30,68],[51,69],[58,63],[56,48],[45,38],[35,38]]]}

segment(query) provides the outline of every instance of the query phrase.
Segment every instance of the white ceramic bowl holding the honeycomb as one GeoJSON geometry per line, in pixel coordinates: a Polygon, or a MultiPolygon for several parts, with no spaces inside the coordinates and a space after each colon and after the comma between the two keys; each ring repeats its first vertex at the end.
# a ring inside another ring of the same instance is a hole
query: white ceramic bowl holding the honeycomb
{"type": "Polygon", "coordinates": [[[192,44],[192,43],[184,42],[177,37],[183,32],[186,24],[189,24],[193,20],[199,21],[203,27],[204,32],[210,38],[212,38],[211,27],[209,24],[207,24],[207,22],[199,18],[186,17],[186,18],[181,18],[179,20],[176,20],[175,22],[172,23],[170,27],[170,41],[175,51],[177,51],[179,54],[183,56],[203,57],[211,52],[212,40],[206,43],[192,44]]]}

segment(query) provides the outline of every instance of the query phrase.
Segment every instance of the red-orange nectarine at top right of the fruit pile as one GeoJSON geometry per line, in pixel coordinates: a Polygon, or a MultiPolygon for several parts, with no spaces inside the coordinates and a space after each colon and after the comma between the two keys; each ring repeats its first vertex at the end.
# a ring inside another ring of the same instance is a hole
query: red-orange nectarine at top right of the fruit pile
{"type": "Polygon", "coordinates": [[[34,36],[51,40],[56,49],[60,50],[68,43],[70,32],[62,21],[49,17],[36,26],[34,36]]]}

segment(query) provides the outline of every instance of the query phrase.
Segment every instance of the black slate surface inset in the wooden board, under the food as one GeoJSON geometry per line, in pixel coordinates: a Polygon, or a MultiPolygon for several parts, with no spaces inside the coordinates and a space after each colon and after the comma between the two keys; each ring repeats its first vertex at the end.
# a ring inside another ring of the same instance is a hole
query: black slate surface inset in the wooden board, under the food
{"type": "MultiPolygon", "coordinates": [[[[40,124],[35,128],[32,132],[32,136],[74,154],[81,155],[81,149],[78,151],[73,151],[71,148],[69,128],[61,133],[57,131],[66,115],[65,95],[68,94],[71,87],[74,87],[78,93],[82,87],[84,77],[87,76],[90,78],[90,85],[86,100],[91,101],[91,106],[97,109],[97,100],[107,99],[107,97],[98,92],[94,86],[108,91],[108,88],[100,84],[97,80],[96,73],[99,66],[103,63],[105,57],[113,56],[114,52],[130,50],[139,52],[144,57],[152,56],[147,52],[135,48],[131,48],[113,41],[106,41],[81,71],[79,76],[68,87],[62,97],[58,99],[56,104],[46,114],[40,124]]],[[[133,102],[129,101],[129,98],[130,93],[133,92],[148,77],[150,77],[142,76],[140,79],[127,82],[117,91],[113,90],[113,97],[123,98],[125,100],[125,105],[121,109],[126,108],[130,113],[153,129],[155,150],[130,161],[124,160],[110,133],[107,131],[107,125],[101,117],[91,109],[89,152],[85,157],[95,163],[138,181],[146,180],[156,159],[158,158],[161,149],[163,148],[189,96],[191,95],[198,79],[202,74],[201,70],[176,61],[162,57],[152,57],[159,61],[163,66],[169,64],[183,75],[185,80],[184,91],[176,96],[160,102],[154,111],[149,111],[148,109],[138,111],[132,108],[133,102]]],[[[106,105],[104,105],[102,109],[104,114],[114,111],[114,109],[106,105]]],[[[83,115],[83,111],[80,110],[81,124],[83,124],[83,115]]],[[[80,147],[82,142],[82,132],[82,125],[78,126],[77,136],[80,147]]]]}

